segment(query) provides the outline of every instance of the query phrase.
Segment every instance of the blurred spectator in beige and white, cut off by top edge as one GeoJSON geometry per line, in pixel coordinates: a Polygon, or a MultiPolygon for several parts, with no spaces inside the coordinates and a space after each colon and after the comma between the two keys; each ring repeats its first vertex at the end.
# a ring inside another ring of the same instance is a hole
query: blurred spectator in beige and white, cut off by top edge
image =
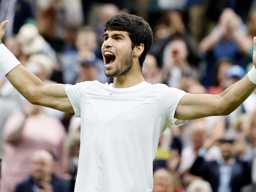
{"type": "Polygon", "coordinates": [[[81,27],[81,0],[37,0],[37,27],[51,45],[63,38],[64,25],[81,27]]]}

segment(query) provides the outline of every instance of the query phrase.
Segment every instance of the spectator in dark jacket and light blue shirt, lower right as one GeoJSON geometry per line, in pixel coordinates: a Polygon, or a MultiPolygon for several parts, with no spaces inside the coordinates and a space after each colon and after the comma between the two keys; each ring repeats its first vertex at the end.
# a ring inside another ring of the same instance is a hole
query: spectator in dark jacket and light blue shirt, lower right
{"type": "Polygon", "coordinates": [[[225,132],[219,139],[222,158],[214,161],[204,159],[205,150],[201,148],[190,172],[201,176],[211,185],[212,192],[240,192],[251,183],[251,170],[247,160],[235,156],[238,135],[225,132]]]}

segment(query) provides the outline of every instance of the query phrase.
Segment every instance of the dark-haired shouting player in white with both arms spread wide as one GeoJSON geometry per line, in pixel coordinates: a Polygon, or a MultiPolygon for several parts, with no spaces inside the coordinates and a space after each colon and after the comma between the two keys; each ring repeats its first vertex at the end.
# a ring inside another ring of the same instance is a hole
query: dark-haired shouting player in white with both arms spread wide
{"type": "MultiPolygon", "coordinates": [[[[7,23],[0,26],[0,40],[7,23]]],[[[229,114],[256,88],[256,69],[219,95],[186,94],[145,82],[141,68],[153,33],[141,17],[110,18],[103,39],[105,74],[114,77],[110,84],[45,84],[3,44],[0,70],[31,103],[81,117],[75,192],[152,192],[152,161],[167,125],[229,114]]]]}

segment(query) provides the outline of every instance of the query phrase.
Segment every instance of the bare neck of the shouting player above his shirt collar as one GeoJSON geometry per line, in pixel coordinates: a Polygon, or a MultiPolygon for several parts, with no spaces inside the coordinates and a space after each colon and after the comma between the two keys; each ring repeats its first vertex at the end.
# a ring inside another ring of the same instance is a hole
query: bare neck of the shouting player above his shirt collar
{"type": "Polygon", "coordinates": [[[137,85],[138,83],[144,82],[145,79],[142,75],[141,68],[139,65],[134,65],[130,71],[124,75],[119,75],[114,78],[113,87],[115,88],[127,88],[137,85]]]}

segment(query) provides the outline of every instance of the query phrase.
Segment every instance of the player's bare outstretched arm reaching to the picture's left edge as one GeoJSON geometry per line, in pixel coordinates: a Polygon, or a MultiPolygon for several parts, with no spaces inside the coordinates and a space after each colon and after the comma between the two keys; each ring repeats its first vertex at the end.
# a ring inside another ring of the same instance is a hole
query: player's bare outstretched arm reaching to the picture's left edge
{"type": "MultiPolygon", "coordinates": [[[[1,40],[7,23],[8,21],[4,21],[0,25],[0,46],[3,46],[1,45],[1,40]]],[[[6,48],[1,48],[0,50],[7,51],[6,48]]],[[[64,112],[73,112],[72,105],[64,90],[64,84],[45,84],[22,65],[17,65],[9,70],[8,56],[9,52],[7,54],[0,52],[0,69],[1,71],[6,71],[6,73],[8,72],[7,74],[4,73],[4,75],[29,102],[64,112]]],[[[10,56],[10,60],[13,60],[11,57],[14,56],[10,56]]]]}

